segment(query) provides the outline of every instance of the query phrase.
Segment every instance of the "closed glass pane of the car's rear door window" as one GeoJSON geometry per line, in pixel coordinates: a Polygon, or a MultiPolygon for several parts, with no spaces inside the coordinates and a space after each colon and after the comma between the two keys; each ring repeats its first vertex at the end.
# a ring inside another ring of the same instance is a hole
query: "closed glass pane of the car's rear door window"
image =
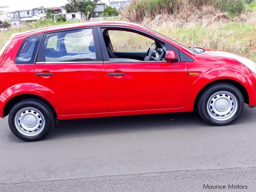
{"type": "Polygon", "coordinates": [[[96,61],[92,29],[47,34],[44,52],[46,62],[96,61]]]}

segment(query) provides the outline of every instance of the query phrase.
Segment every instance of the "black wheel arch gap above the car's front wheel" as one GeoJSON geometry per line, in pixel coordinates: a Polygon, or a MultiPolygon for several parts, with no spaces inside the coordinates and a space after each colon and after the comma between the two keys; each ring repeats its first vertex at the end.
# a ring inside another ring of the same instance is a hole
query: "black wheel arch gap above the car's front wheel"
{"type": "Polygon", "coordinates": [[[245,89],[245,87],[240,84],[239,82],[232,80],[232,79],[218,79],[218,80],[214,80],[208,84],[206,84],[196,95],[195,97],[195,102],[194,102],[194,106],[193,106],[193,110],[195,110],[197,108],[197,102],[198,102],[198,98],[199,96],[202,94],[203,91],[205,91],[208,87],[210,87],[213,84],[216,83],[228,83],[231,84],[233,86],[235,86],[242,94],[243,99],[244,99],[244,103],[249,104],[249,95],[245,89]]]}

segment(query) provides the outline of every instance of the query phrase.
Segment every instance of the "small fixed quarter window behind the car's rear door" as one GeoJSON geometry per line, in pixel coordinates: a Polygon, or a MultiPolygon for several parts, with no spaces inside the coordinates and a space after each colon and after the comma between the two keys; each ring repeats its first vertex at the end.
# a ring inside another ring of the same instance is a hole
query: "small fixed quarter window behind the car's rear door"
{"type": "Polygon", "coordinates": [[[36,51],[42,34],[27,37],[21,44],[19,52],[15,58],[16,64],[35,63],[36,51]]]}

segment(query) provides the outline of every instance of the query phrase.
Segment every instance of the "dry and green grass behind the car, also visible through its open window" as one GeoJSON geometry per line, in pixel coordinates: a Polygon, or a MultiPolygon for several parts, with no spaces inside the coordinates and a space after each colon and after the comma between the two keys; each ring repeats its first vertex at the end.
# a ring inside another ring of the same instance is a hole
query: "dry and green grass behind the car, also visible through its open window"
{"type": "MultiPolygon", "coordinates": [[[[144,19],[142,24],[186,46],[225,50],[256,62],[256,10],[255,6],[251,7],[250,11],[231,19],[225,14],[187,21],[172,15],[158,15],[153,20],[144,19]]],[[[68,23],[54,23],[45,19],[18,29],[0,31],[0,48],[13,33],[68,23]]],[[[147,50],[152,43],[148,38],[127,32],[112,33],[110,37],[118,51],[147,50]]]]}

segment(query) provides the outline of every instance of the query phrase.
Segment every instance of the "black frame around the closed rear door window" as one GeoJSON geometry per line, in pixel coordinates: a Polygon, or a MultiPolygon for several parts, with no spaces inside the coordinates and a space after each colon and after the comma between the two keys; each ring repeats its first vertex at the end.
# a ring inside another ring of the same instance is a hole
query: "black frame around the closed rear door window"
{"type": "Polygon", "coordinates": [[[103,63],[102,53],[100,49],[100,42],[99,42],[99,35],[97,28],[95,26],[89,26],[89,27],[77,27],[77,28],[70,28],[70,29],[63,29],[63,30],[56,30],[56,31],[50,31],[44,33],[44,36],[42,38],[42,41],[39,44],[40,47],[37,55],[37,59],[35,64],[68,64],[68,63],[103,63]],[[96,54],[96,61],[67,61],[67,62],[46,62],[45,60],[45,54],[44,54],[44,41],[47,34],[52,33],[59,33],[63,31],[73,31],[73,30],[80,30],[80,29],[92,29],[93,31],[93,40],[94,40],[94,47],[95,47],[95,54],[96,54]]]}

